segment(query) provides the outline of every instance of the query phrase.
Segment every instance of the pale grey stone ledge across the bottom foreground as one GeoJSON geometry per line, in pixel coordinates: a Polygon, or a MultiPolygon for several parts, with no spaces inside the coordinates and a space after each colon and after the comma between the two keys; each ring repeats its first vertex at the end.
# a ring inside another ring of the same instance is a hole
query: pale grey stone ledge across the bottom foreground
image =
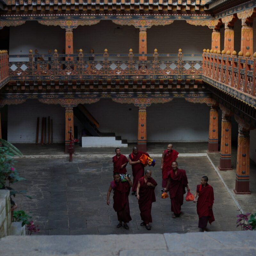
{"type": "Polygon", "coordinates": [[[107,236],[7,236],[1,256],[255,256],[256,232],[107,236]]]}

